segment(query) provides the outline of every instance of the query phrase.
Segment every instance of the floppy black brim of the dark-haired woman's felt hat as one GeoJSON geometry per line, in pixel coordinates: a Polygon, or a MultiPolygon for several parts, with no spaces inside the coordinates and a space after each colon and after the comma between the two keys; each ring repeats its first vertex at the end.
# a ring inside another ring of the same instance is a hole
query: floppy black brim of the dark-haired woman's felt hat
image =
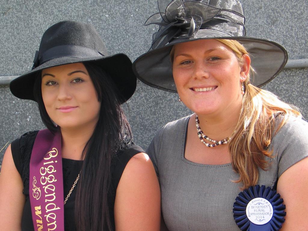
{"type": "Polygon", "coordinates": [[[126,102],[135,92],[137,79],[132,71],[132,62],[125,54],[99,56],[91,58],[55,58],[42,63],[33,70],[10,82],[10,91],[20,99],[34,100],[33,87],[39,71],[48,67],[56,67],[69,63],[94,62],[100,65],[114,81],[120,92],[120,102],[126,102]]]}

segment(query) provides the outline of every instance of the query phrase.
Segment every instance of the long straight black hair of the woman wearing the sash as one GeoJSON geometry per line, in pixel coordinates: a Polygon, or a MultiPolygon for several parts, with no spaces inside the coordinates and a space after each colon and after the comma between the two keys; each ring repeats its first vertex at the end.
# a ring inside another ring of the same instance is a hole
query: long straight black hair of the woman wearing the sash
{"type": "MultiPolygon", "coordinates": [[[[101,102],[99,120],[83,149],[82,170],[75,199],[75,225],[78,231],[114,230],[114,202],[108,201],[111,184],[111,161],[116,153],[132,143],[132,132],[120,105],[121,93],[110,75],[95,63],[83,63],[101,102]],[[112,216],[112,217],[111,217],[112,216]]],[[[45,109],[41,74],[34,84],[34,96],[43,123],[51,132],[57,128],[45,109]]]]}

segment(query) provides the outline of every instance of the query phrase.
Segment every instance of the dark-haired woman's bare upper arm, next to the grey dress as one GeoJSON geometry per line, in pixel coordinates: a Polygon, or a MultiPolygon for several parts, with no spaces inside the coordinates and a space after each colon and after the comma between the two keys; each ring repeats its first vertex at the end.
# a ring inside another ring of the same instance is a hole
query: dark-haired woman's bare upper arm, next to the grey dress
{"type": "Polygon", "coordinates": [[[146,153],[134,155],[124,168],[116,189],[114,212],[117,231],[159,230],[160,188],[146,153]]]}

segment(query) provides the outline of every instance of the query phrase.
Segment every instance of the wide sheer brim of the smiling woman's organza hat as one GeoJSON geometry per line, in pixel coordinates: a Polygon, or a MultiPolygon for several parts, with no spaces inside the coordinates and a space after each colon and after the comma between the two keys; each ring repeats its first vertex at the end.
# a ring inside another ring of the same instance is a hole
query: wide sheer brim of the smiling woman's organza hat
{"type": "MultiPolygon", "coordinates": [[[[199,30],[198,32],[201,32],[199,30]]],[[[288,60],[286,49],[273,41],[251,37],[204,37],[199,33],[193,38],[175,39],[164,47],[157,48],[138,57],[133,63],[133,71],[143,83],[164,91],[177,92],[173,80],[170,51],[178,43],[201,39],[233,39],[240,42],[249,52],[251,66],[255,73],[250,82],[261,87],[273,80],[288,60]]]]}

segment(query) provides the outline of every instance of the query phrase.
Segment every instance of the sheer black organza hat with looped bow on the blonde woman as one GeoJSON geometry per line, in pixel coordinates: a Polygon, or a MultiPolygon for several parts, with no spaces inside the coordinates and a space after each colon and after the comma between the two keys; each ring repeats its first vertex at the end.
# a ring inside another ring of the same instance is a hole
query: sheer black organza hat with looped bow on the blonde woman
{"type": "Polygon", "coordinates": [[[169,57],[172,46],[199,39],[234,39],[249,52],[255,73],[250,82],[261,87],[285,66],[288,54],[282,45],[245,36],[245,17],[237,0],[158,0],[159,13],[144,25],[157,24],[150,50],[138,57],[133,70],[143,83],[177,92],[169,57]]]}

